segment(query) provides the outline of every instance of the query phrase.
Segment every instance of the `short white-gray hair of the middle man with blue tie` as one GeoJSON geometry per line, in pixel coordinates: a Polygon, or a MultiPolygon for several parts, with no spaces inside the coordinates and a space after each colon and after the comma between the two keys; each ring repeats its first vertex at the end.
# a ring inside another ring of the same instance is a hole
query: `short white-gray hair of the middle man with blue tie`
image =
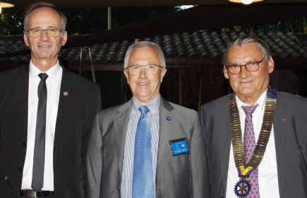
{"type": "Polygon", "coordinates": [[[140,42],[137,42],[133,45],[130,45],[128,47],[128,50],[126,52],[126,55],[125,55],[125,59],[124,59],[124,69],[127,69],[128,67],[128,62],[129,62],[129,59],[130,59],[130,55],[131,53],[133,52],[133,50],[136,50],[138,48],[146,48],[146,47],[150,47],[152,48],[153,50],[155,50],[159,56],[159,60],[161,62],[161,66],[163,68],[165,68],[166,64],[165,64],[165,58],[164,58],[164,54],[161,50],[161,47],[159,47],[159,45],[155,44],[155,42],[149,42],[149,41],[140,41],[140,42]]]}

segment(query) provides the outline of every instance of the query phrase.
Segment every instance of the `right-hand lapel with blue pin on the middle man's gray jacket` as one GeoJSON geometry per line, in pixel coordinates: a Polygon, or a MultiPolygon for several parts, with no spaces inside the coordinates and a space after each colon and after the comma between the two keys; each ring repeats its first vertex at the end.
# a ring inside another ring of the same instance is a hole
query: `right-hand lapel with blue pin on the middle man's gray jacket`
{"type": "Polygon", "coordinates": [[[157,167],[162,160],[165,147],[169,144],[169,134],[171,130],[174,129],[174,123],[176,122],[176,115],[174,115],[171,110],[174,108],[161,97],[160,107],[159,107],[159,146],[157,155],[157,167]],[[167,122],[166,117],[171,117],[171,121],[167,122]]]}

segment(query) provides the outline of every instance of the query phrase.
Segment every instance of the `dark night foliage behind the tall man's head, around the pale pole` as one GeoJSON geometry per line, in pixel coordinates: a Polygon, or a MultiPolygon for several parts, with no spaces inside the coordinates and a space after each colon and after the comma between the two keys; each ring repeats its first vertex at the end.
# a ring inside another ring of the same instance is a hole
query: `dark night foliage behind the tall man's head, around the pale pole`
{"type": "MultiPolygon", "coordinates": [[[[179,11],[177,6],[112,8],[112,28],[179,11]]],[[[61,8],[67,17],[68,35],[90,34],[107,30],[107,8],[61,8]]],[[[23,33],[24,9],[4,8],[0,14],[0,35],[23,33]]]]}

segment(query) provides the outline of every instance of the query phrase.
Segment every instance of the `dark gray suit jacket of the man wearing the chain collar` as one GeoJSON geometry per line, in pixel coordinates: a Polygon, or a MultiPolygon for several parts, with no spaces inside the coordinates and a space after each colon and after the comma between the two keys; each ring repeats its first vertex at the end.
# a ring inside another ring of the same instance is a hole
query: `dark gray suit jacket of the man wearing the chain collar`
{"type": "MultiPolygon", "coordinates": [[[[231,136],[230,95],[202,106],[200,117],[207,143],[210,197],[225,197],[231,136]]],[[[280,197],[307,197],[307,100],[277,91],[274,117],[280,197]]]]}

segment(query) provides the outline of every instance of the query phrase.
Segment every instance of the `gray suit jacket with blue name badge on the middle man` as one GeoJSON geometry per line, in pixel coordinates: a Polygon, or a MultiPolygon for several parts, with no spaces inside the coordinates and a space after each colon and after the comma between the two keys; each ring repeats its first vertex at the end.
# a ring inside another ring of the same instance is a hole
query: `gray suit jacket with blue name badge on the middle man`
{"type": "MultiPolygon", "coordinates": [[[[155,197],[208,197],[205,140],[197,112],[161,98],[155,197]],[[166,117],[171,121],[167,123],[166,117]],[[172,156],[169,141],[186,138],[190,153],[172,156]]],[[[102,110],[92,126],[88,148],[90,198],[121,197],[121,171],[131,100],[102,110]]]]}

